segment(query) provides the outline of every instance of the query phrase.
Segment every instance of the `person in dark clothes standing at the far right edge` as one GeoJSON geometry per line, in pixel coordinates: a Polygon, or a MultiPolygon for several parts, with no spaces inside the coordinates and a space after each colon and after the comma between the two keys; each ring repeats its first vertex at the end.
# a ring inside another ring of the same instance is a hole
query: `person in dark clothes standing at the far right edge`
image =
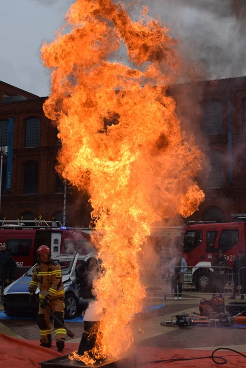
{"type": "Polygon", "coordinates": [[[237,258],[233,264],[233,274],[234,274],[234,287],[233,295],[229,299],[236,299],[236,292],[239,285],[241,285],[241,300],[244,299],[244,294],[246,294],[246,258],[243,256],[243,251],[239,250],[237,253],[237,258]],[[245,268],[242,268],[245,267],[245,268]]]}

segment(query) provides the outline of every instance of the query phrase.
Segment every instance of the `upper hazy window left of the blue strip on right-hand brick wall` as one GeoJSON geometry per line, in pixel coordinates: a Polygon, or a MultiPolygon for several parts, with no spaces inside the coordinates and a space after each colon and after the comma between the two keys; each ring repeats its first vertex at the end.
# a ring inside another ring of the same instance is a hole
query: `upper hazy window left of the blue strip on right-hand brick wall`
{"type": "Polygon", "coordinates": [[[205,134],[222,134],[222,102],[206,101],[203,109],[205,134]]]}

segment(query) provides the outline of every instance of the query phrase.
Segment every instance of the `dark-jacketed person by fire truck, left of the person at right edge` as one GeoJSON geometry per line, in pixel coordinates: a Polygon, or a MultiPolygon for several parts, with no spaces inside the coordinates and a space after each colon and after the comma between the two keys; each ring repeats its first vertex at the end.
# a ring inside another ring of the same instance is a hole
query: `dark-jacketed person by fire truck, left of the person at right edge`
{"type": "Polygon", "coordinates": [[[222,250],[218,251],[212,262],[212,267],[215,267],[213,271],[213,293],[219,293],[221,295],[226,284],[226,273],[223,267],[228,267],[226,257],[224,256],[222,250]]]}

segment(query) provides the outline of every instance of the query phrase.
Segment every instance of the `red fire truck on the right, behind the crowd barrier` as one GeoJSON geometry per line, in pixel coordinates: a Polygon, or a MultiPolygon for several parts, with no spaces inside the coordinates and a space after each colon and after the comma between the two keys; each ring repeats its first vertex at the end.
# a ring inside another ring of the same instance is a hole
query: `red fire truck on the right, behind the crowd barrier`
{"type": "Polygon", "coordinates": [[[223,250],[229,267],[238,250],[246,254],[246,214],[232,214],[233,222],[190,221],[184,231],[184,258],[192,266],[187,275],[197,289],[209,283],[209,270],[217,252],[223,250]]]}

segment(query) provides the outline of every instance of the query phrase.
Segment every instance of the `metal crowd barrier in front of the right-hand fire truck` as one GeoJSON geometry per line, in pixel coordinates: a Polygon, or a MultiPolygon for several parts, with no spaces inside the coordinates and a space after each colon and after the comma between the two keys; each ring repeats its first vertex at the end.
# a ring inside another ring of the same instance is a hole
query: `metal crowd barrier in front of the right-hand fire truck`
{"type": "MultiPolygon", "coordinates": [[[[234,275],[231,267],[155,267],[148,279],[147,294],[181,297],[183,294],[232,295],[234,275]]],[[[246,269],[245,284],[246,286],[246,269]]]]}

